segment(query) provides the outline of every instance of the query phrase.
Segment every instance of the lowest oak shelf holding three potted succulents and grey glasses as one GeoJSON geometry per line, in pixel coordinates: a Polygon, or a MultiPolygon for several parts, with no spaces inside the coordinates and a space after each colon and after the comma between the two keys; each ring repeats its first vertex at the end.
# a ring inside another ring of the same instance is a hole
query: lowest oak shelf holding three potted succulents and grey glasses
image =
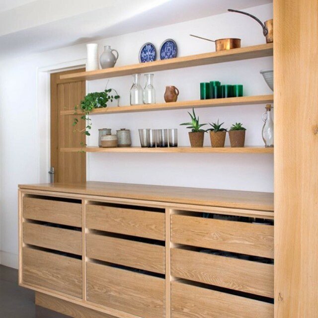
{"type": "Polygon", "coordinates": [[[61,152],[73,153],[85,151],[86,153],[203,153],[203,154],[273,154],[274,148],[242,147],[242,148],[191,148],[191,147],[167,147],[167,148],[142,148],[142,147],[118,147],[118,148],[61,148],[61,152]]]}

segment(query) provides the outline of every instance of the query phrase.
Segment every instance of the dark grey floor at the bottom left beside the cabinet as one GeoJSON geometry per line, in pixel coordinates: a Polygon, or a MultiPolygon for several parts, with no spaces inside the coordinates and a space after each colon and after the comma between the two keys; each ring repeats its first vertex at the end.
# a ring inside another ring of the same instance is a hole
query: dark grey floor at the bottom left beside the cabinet
{"type": "Polygon", "coordinates": [[[18,286],[18,271],[0,265],[0,318],[69,318],[35,306],[34,292],[18,286]]]}

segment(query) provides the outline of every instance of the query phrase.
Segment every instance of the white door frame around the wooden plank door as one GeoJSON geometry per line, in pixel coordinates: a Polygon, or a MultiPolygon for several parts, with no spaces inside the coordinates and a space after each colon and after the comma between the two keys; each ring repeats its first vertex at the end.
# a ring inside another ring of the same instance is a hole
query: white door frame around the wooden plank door
{"type": "MultiPolygon", "coordinates": [[[[48,171],[51,166],[51,74],[85,67],[86,59],[74,60],[37,68],[37,160],[38,183],[50,183],[48,171]]],[[[86,93],[88,85],[86,82],[86,93]]],[[[86,177],[88,162],[86,158],[86,177]]]]}

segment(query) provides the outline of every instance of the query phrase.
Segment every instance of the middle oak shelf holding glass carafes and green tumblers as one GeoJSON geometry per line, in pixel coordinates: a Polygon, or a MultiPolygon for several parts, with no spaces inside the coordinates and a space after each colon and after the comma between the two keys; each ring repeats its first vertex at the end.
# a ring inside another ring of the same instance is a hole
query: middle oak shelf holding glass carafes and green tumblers
{"type": "MultiPolygon", "coordinates": [[[[116,114],[116,113],[133,113],[154,110],[169,110],[169,109],[183,109],[183,108],[202,108],[202,107],[217,107],[217,106],[235,106],[235,105],[253,105],[253,104],[266,104],[274,101],[273,95],[256,95],[256,96],[242,96],[230,98],[216,98],[204,100],[186,100],[176,101],[171,103],[157,103],[147,105],[133,105],[133,106],[119,106],[119,107],[106,107],[96,108],[90,114],[116,114]]],[[[74,115],[74,109],[62,110],[61,115],[74,115]]],[[[78,112],[82,114],[82,112],[78,112]]]]}

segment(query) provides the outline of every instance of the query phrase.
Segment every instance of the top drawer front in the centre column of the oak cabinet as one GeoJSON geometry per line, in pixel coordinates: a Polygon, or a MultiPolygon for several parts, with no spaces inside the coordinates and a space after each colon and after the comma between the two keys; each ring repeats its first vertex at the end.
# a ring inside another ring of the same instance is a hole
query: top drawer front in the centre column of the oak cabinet
{"type": "Polygon", "coordinates": [[[164,213],[87,205],[86,227],[148,239],[164,240],[164,213]]]}

